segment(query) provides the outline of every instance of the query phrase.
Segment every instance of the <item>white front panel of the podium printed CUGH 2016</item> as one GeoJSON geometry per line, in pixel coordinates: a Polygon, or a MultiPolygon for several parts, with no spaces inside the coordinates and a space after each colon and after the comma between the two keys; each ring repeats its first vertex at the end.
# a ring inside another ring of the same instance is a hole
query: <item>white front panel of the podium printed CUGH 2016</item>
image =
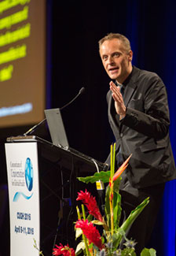
{"type": "Polygon", "coordinates": [[[10,255],[37,256],[40,213],[37,142],[6,143],[9,187],[10,255]]]}

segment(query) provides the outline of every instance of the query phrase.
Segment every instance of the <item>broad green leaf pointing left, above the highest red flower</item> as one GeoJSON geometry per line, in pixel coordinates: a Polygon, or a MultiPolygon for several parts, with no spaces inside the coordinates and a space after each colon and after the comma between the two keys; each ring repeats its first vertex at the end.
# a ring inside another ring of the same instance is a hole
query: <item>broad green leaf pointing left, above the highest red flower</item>
{"type": "Polygon", "coordinates": [[[94,176],[86,176],[86,177],[77,177],[79,181],[82,181],[86,184],[95,183],[98,180],[101,180],[103,183],[108,183],[110,177],[110,171],[101,171],[100,173],[94,173],[94,176]]]}

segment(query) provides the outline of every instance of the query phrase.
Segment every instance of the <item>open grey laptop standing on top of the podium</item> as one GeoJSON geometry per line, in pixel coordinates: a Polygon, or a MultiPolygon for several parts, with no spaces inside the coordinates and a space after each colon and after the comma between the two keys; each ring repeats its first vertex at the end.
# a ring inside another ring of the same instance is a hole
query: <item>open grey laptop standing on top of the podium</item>
{"type": "Polygon", "coordinates": [[[107,164],[102,163],[101,161],[97,161],[94,158],[90,158],[86,154],[83,154],[69,146],[68,138],[64,129],[63,119],[61,116],[61,109],[45,109],[44,113],[46,115],[46,121],[49,127],[49,133],[53,145],[61,147],[64,150],[68,150],[69,152],[72,152],[73,154],[76,154],[79,157],[84,158],[88,161],[92,161],[94,163],[96,162],[96,164],[99,165],[102,170],[108,169],[107,164]]]}

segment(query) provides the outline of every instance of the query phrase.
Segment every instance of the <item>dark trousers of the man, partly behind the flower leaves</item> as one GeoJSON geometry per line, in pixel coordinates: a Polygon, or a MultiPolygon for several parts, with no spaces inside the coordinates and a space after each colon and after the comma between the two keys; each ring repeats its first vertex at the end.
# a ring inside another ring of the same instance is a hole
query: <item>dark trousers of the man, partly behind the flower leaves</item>
{"type": "MultiPolygon", "coordinates": [[[[120,190],[122,195],[122,217],[121,224],[130,215],[131,210],[134,210],[145,198],[149,196],[149,203],[145,209],[139,214],[137,219],[131,225],[127,232],[127,238],[133,239],[137,242],[135,251],[137,255],[141,254],[141,250],[146,247],[148,240],[152,234],[152,229],[156,222],[157,213],[163,197],[165,184],[157,184],[152,187],[145,187],[143,189],[136,189],[130,187],[128,184],[125,190],[120,190]]],[[[121,248],[123,248],[123,242],[121,248]]]]}

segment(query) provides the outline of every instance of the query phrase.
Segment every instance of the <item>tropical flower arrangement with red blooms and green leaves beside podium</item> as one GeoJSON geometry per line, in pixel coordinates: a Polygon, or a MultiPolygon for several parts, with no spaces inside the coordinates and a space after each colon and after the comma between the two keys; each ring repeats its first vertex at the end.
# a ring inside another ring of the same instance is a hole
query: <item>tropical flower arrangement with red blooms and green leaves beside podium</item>
{"type": "MultiPolygon", "coordinates": [[[[108,183],[105,191],[105,216],[101,215],[101,211],[97,206],[97,202],[89,191],[80,191],[78,193],[77,201],[82,201],[82,213],[79,207],[76,207],[78,221],[75,222],[75,239],[82,237],[81,242],[77,245],[76,250],[70,248],[68,245],[55,246],[53,255],[75,256],[83,253],[87,256],[94,255],[132,255],[135,256],[136,242],[132,239],[127,239],[126,232],[133,224],[135,219],[141,211],[147,206],[149,198],[145,198],[141,204],[134,209],[126,221],[119,227],[119,220],[121,216],[121,195],[119,195],[119,183],[121,180],[120,175],[127,169],[130,157],[124,161],[123,165],[115,173],[115,158],[116,158],[116,144],[111,146],[111,170],[99,173],[94,173],[94,176],[79,177],[80,181],[84,183],[102,182],[108,183]],[[85,206],[88,210],[86,216],[85,206]],[[101,226],[103,229],[102,235],[96,226],[101,226]],[[119,249],[119,244],[125,239],[123,250],[119,249]]],[[[137,241],[138,243],[138,241],[137,241]]],[[[141,256],[155,256],[156,250],[147,249],[141,251],[141,256]]]]}

